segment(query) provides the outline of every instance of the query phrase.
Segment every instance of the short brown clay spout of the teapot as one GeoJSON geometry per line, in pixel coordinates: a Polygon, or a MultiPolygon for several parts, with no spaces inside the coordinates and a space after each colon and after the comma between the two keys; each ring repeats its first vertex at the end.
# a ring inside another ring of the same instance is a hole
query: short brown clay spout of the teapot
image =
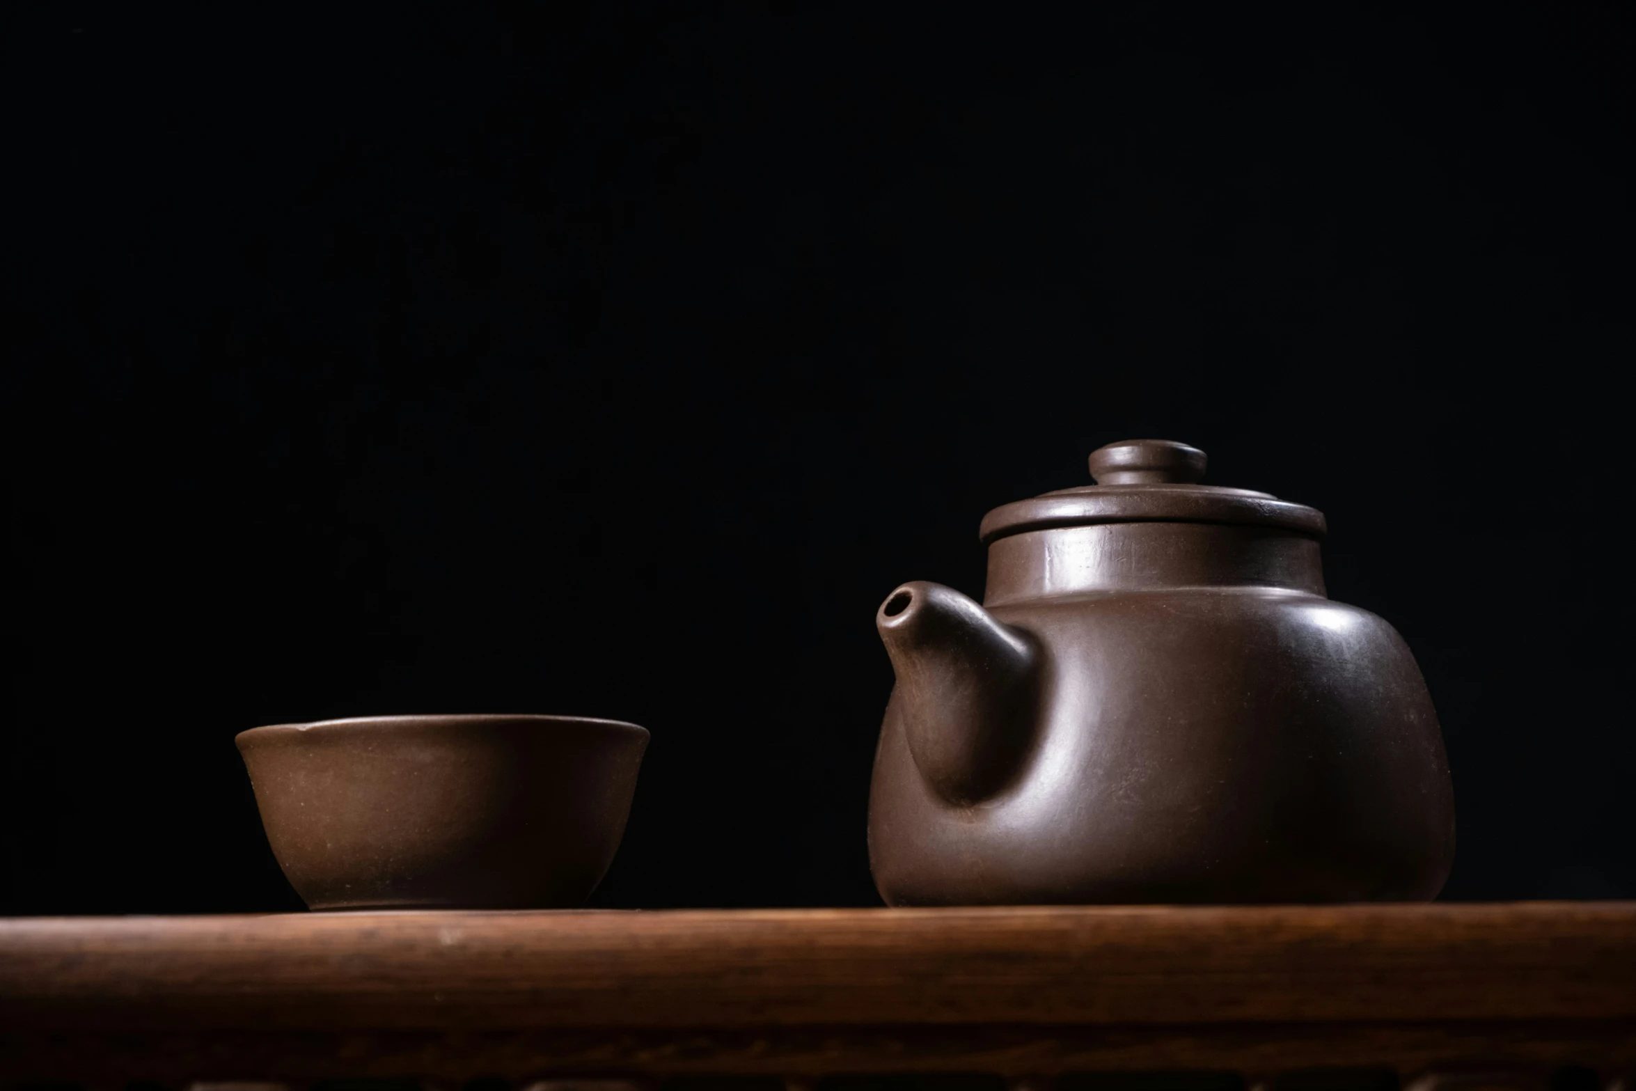
{"type": "Polygon", "coordinates": [[[1040,651],[952,587],[903,584],[875,613],[915,765],[944,800],[972,805],[1022,767],[1034,736],[1040,651]]]}

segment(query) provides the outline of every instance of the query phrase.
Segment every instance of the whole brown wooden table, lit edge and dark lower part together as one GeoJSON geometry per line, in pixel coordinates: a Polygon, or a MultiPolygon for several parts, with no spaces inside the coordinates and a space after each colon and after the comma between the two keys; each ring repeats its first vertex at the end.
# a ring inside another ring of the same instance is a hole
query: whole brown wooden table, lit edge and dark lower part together
{"type": "Polygon", "coordinates": [[[1636,1070],[1636,905],[0,921],[10,1084],[1566,1065],[1636,1070]]]}

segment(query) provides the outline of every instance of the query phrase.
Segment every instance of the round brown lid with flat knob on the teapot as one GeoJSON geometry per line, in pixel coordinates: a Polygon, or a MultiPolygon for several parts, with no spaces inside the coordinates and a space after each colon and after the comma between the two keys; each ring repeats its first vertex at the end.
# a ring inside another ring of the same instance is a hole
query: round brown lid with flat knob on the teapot
{"type": "Polygon", "coordinates": [[[1173,440],[1122,440],[1091,453],[1096,484],[1003,504],[983,515],[983,545],[1008,535],[1090,523],[1248,523],[1322,537],[1324,512],[1268,492],[1198,484],[1204,451],[1173,440]]]}

